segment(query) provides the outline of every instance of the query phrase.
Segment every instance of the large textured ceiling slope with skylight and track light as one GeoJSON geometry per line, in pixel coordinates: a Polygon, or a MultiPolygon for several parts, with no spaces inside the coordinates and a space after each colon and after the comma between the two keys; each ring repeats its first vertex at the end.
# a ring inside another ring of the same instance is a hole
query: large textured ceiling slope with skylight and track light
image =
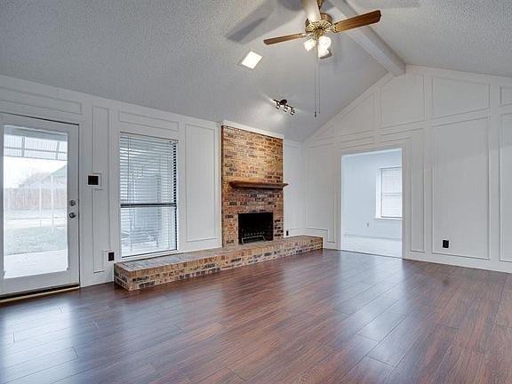
{"type": "Polygon", "coordinates": [[[315,119],[312,52],[262,43],[304,19],[300,0],[1,0],[0,74],[303,140],[386,73],[336,36],[315,119]],[[254,71],[236,65],[250,49],[263,55],[254,71]]]}

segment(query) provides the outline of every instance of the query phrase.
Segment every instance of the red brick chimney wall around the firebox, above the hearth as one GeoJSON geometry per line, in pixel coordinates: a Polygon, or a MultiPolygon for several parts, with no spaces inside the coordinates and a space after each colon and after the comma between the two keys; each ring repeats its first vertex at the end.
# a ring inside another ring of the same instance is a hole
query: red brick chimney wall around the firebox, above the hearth
{"type": "Polygon", "coordinates": [[[273,212],[283,237],[283,190],[232,188],[230,180],[283,182],[283,140],[222,126],[222,244],[238,244],[238,213],[273,212]]]}

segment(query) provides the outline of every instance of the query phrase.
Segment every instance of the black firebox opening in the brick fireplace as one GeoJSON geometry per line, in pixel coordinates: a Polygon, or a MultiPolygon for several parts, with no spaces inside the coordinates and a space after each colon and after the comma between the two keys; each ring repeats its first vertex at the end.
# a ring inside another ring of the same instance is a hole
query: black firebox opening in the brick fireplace
{"type": "Polygon", "coordinates": [[[272,212],[238,213],[238,243],[247,244],[274,239],[272,212]]]}

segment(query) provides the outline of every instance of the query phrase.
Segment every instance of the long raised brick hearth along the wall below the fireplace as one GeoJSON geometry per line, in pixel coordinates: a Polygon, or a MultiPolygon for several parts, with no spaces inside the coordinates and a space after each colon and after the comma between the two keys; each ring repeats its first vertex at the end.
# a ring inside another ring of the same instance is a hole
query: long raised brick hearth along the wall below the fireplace
{"type": "Polygon", "coordinates": [[[318,249],[322,249],[321,237],[292,236],[271,242],[116,263],[114,278],[116,284],[134,291],[318,249]]]}

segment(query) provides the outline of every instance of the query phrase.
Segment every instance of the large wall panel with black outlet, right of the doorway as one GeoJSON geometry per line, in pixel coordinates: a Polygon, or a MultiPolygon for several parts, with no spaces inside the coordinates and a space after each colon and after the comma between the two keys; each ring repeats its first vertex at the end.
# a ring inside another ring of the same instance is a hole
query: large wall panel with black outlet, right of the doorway
{"type": "Polygon", "coordinates": [[[438,125],[433,133],[432,250],[489,259],[488,119],[438,125]],[[464,145],[460,145],[464,138],[464,145]],[[450,241],[443,248],[443,240],[450,241]]]}

